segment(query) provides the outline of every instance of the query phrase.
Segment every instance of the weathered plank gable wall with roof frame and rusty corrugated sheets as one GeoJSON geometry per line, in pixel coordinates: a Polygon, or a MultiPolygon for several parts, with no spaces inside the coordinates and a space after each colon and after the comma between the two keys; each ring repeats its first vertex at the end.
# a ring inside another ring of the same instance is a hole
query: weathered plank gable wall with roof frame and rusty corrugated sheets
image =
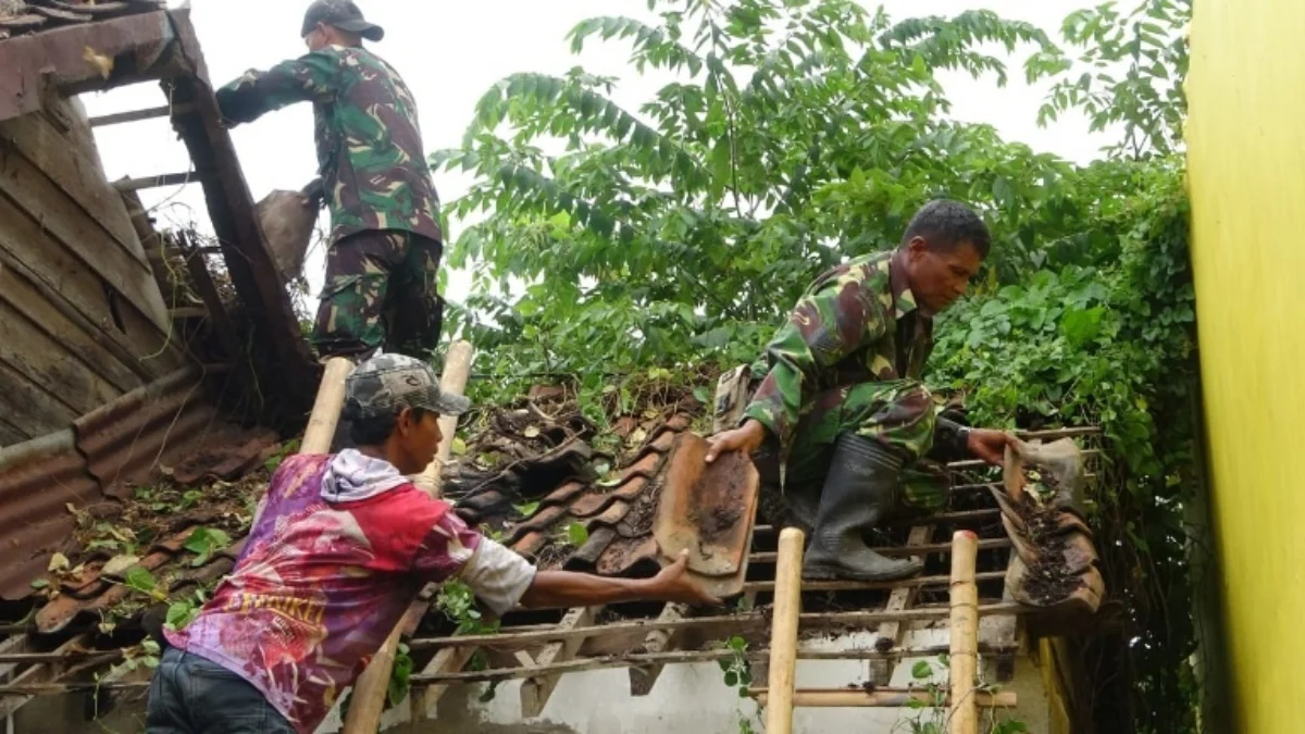
{"type": "Polygon", "coordinates": [[[315,366],[218,124],[188,10],[0,4],[0,522],[17,559],[0,569],[0,598],[20,599],[67,539],[69,505],[234,436],[218,417],[224,389],[274,384],[262,394],[301,414],[311,388],[295,387],[313,384],[315,366]],[[142,81],[161,85],[163,106],[89,120],[72,98],[142,81]],[[191,152],[184,176],[204,187],[239,324],[204,265],[210,252],[155,232],[136,196],[177,175],[104,178],[91,128],[164,115],[191,152]],[[177,263],[193,302],[174,298],[177,263]]]}

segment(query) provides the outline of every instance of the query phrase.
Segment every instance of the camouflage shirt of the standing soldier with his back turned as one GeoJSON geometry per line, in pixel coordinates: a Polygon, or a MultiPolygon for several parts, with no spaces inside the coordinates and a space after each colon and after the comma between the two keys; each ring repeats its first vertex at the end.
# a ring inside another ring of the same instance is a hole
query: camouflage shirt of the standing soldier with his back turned
{"type": "Polygon", "coordinates": [[[232,123],[312,101],[333,243],[367,230],[441,239],[416,102],[398,72],[371,51],[329,46],[268,72],[247,72],[217,95],[232,123]]]}

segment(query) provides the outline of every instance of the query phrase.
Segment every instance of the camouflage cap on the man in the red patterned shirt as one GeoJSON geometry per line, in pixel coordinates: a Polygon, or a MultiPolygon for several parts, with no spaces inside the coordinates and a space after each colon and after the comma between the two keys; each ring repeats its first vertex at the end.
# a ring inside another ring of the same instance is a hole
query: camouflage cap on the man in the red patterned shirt
{"type": "Polygon", "coordinates": [[[393,415],[402,407],[461,415],[471,407],[471,401],[440,392],[435,370],[402,354],[373,357],[345,381],[345,417],[348,419],[393,415]]]}

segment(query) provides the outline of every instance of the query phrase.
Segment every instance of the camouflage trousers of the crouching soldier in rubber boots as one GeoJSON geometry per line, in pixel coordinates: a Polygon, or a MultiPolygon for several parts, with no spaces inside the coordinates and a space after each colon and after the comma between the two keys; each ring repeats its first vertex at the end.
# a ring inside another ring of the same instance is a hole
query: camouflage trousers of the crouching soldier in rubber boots
{"type": "MultiPolygon", "coordinates": [[[[946,505],[950,479],[942,468],[921,461],[933,445],[937,423],[933,397],[915,380],[861,383],[825,391],[808,404],[797,422],[784,470],[784,495],[799,516],[814,515],[838,436],[876,439],[907,460],[902,471],[906,508],[933,512],[946,505]]],[[[762,482],[779,486],[779,461],[763,448],[754,457],[762,482]],[[770,456],[767,456],[770,455],[770,456]]],[[[801,517],[800,517],[801,519],[801,517]]]]}

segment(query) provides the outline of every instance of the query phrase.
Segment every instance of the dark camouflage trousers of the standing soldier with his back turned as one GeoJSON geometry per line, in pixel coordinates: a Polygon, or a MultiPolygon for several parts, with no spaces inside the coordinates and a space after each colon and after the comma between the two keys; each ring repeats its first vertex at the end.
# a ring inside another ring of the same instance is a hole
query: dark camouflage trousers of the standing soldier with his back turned
{"type": "Polygon", "coordinates": [[[371,230],[334,243],[317,307],[313,346],[322,357],[367,357],[384,346],[429,359],[444,300],[436,291],[442,246],[403,230],[371,230]]]}

